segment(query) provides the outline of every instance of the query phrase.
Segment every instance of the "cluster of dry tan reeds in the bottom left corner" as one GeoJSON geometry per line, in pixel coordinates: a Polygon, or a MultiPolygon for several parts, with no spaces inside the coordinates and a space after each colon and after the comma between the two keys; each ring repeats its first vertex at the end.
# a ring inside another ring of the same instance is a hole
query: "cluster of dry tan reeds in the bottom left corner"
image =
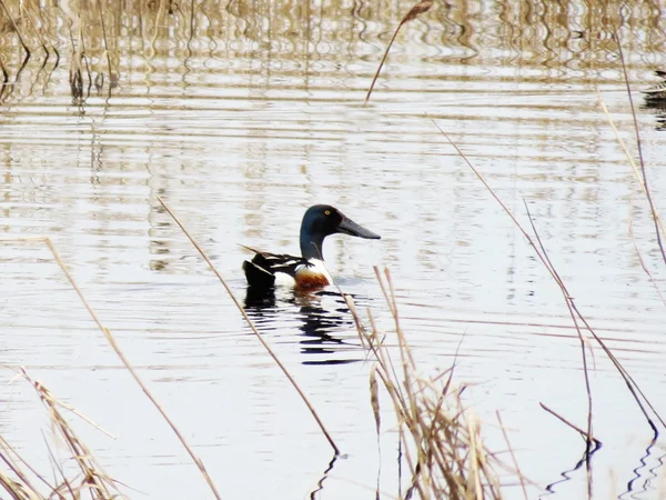
{"type": "MultiPolygon", "coordinates": [[[[79,439],[62,410],[83,417],[56,399],[42,383],[31,379],[26,370],[21,370],[20,377],[32,386],[44,404],[53,432],[51,440],[53,446],[64,447],[69,457],[64,460],[57,460],[56,454],[61,456],[62,451],[59,450],[58,453],[54,453],[49,448],[52,470],[42,473],[28,463],[17,449],[0,436],[0,460],[8,468],[8,471],[0,470],[0,489],[3,489],[13,500],[82,500],[85,498],[112,500],[125,498],[118,490],[115,481],[102,470],[85,443],[79,439]]],[[[93,424],[90,420],[85,420],[93,424]]],[[[2,494],[0,498],[7,497],[2,494]]]]}

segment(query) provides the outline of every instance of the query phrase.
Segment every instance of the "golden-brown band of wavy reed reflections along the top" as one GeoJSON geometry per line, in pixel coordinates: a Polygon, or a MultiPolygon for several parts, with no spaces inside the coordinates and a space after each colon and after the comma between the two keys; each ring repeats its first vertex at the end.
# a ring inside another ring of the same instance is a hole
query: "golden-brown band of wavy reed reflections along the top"
{"type": "MultiPolygon", "coordinates": [[[[307,62],[302,70],[312,71],[312,61],[357,63],[371,50],[379,62],[377,48],[385,47],[416,3],[424,2],[386,6],[372,0],[350,10],[334,0],[317,8],[299,0],[2,0],[0,99],[7,100],[22,78],[30,79],[29,91],[36,83],[46,88],[50,73],[60,70],[69,73],[72,96],[82,100],[94,88],[110,91],[132,71],[151,72],[155,57],[250,57],[263,63],[271,54],[273,62],[307,62]]],[[[535,0],[434,2],[404,36],[417,37],[407,43],[411,50],[445,58],[452,66],[466,64],[471,57],[480,62],[501,58],[511,66],[567,68],[575,71],[567,74],[571,81],[614,68],[616,29],[625,31],[628,49],[642,58],[664,52],[666,19],[655,0],[584,1],[575,7],[535,0]]]]}

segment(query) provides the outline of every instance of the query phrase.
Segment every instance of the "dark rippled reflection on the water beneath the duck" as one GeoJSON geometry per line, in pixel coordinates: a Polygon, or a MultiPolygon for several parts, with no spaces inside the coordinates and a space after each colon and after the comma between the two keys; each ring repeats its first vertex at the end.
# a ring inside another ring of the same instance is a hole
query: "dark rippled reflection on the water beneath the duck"
{"type": "Polygon", "coordinates": [[[365,359],[354,320],[340,293],[248,287],[245,311],[261,331],[276,330],[284,314],[295,319],[302,332],[301,352],[306,357],[303,364],[346,364],[365,359]]]}

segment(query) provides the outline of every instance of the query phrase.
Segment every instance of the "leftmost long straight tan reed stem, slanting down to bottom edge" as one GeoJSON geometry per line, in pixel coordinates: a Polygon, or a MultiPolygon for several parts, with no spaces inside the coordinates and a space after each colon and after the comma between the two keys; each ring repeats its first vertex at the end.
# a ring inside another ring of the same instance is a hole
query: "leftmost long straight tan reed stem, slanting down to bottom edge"
{"type": "Polygon", "coordinates": [[[47,247],[49,248],[49,250],[53,254],[53,258],[56,259],[56,262],[58,263],[58,266],[60,267],[60,269],[62,270],[62,272],[64,272],[64,276],[67,277],[67,279],[70,282],[71,287],[74,289],[74,291],[79,296],[79,299],[81,300],[81,302],[83,303],[83,306],[88,310],[88,313],[90,314],[90,317],[92,318],[92,320],[95,322],[95,324],[98,326],[98,328],[100,329],[100,331],[107,338],[107,341],[109,342],[109,344],[111,346],[111,348],[113,349],[113,351],[115,351],[115,354],[120,358],[120,360],[122,361],[122,363],[124,364],[124,367],[128,369],[128,371],[130,372],[130,374],[132,376],[132,378],[134,379],[134,381],[139,384],[139,387],[143,391],[143,393],[148,397],[148,399],[158,409],[158,411],[160,412],[160,414],[162,416],[162,418],[167,421],[167,423],[169,424],[169,427],[171,428],[171,430],[173,431],[173,433],[178,437],[179,441],[183,444],[183,447],[188,451],[188,454],[190,454],[190,457],[192,458],[192,460],[196,464],[198,469],[202,473],[203,478],[205,479],[205,482],[208,483],[209,488],[213,492],[213,496],[218,500],[221,500],[220,493],[218,492],[218,489],[215,488],[215,484],[213,483],[213,480],[209,476],[209,473],[208,473],[208,471],[205,469],[205,466],[196,457],[196,454],[194,453],[194,451],[192,450],[192,448],[190,448],[190,444],[188,444],[185,438],[182,436],[182,433],[180,432],[180,430],[175,427],[175,423],[171,420],[171,418],[169,418],[169,416],[167,414],[167,412],[164,411],[164,409],[160,406],[160,403],[154,398],[154,396],[152,394],[152,392],[148,389],[148,386],[145,386],[145,383],[143,383],[143,381],[141,380],[141,378],[139,377],[139,374],[137,373],[137,371],[134,370],[134,368],[132,367],[132,364],[130,363],[130,361],[125,358],[124,353],[120,349],[120,346],[118,346],[118,343],[115,342],[115,338],[111,333],[111,330],[109,330],[107,327],[104,327],[102,324],[102,322],[99,319],[97,312],[94,311],[94,309],[92,308],[92,306],[88,302],[88,300],[83,296],[83,292],[81,291],[81,289],[77,284],[77,282],[74,281],[74,279],[71,276],[71,273],[68,271],[67,267],[64,266],[64,262],[60,258],[60,254],[56,250],[56,247],[53,246],[53,243],[51,242],[51,240],[49,238],[43,238],[42,241],[47,244],[47,247]]]}

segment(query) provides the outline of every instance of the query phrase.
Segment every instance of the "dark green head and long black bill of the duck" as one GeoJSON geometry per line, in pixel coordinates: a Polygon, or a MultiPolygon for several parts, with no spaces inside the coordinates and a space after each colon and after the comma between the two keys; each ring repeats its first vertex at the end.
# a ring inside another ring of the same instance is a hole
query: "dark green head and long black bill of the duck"
{"type": "Polygon", "coordinates": [[[357,224],[335,207],[315,204],[310,207],[301,223],[301,254],[305,259],[324,259],[322,244],[330,234],[342,233],[369,240],[381,237],[357,224]]]}

